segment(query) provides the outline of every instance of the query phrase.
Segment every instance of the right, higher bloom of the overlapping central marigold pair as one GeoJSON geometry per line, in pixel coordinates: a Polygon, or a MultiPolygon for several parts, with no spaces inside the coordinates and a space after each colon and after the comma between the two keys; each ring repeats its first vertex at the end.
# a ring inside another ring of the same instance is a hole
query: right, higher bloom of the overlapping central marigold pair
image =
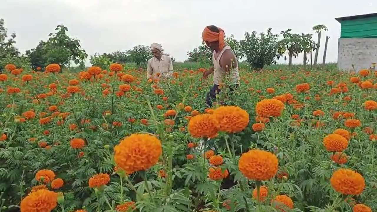
{"type": "Polygon", "coordinates": [[[237,106],[221,106],[213,112],[213,117],[222,132],[241,132],[249,123],[249,114],[237,106]]]}

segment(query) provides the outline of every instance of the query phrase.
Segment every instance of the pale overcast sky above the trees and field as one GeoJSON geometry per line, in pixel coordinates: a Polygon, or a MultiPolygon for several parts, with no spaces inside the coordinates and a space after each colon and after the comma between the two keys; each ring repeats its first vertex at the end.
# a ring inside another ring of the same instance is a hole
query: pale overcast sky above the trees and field
{"type": "MultiPolygon", "coordinates": [[[[219,26],[240,40],[245,32],[268,28],[274,33],[288,28],[314,33],[312,27],[323,24],[329,29],[322,41],[330,36],[330,62],[337,60],[340,36],[334,18],[373,13],[376,7],[375,0],[0,0],[0,18],[8,34],[17,34],[16,46],[23,53],[63,24],[89,55],[157,42],[179,61],[201,44],[207,25],[219,26]]],[[[320,61],[322,53],[323,48],[320,61]]],[[[302,63],[302,58],[293,62],[302,63]]]]}

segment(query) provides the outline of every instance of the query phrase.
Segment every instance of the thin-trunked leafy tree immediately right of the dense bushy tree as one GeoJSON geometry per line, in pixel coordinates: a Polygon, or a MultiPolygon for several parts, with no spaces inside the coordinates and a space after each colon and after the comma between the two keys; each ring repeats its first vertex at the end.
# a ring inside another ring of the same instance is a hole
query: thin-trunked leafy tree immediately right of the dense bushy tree
{"type": "Polygon", "coordinates": [[[292,57],[296,58],[303,51],[302,37],[299,34],[291,33],[291,29],[281,31],[283,39],[279,41],[280,48],[288,51],[289,65],[292,66],[292,57]]]}

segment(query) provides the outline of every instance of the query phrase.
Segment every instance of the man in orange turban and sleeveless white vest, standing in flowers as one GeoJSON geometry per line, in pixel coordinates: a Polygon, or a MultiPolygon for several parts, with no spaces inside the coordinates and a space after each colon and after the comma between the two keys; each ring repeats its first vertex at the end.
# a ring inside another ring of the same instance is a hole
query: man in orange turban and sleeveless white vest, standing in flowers
{"type": "Polygon", "coordinates": [[[224,40],[224,30],[216,26],[206,26],[202,32],[203,41],[213,51],[213,66],[203,72],[203,78],[213,73],[213,87],[205,99],[208,107],[216,101],[216,94],[221,92],[219,85],[227,83],[233,92],[239,84],[238,61],[230,46],[224,40]]]}

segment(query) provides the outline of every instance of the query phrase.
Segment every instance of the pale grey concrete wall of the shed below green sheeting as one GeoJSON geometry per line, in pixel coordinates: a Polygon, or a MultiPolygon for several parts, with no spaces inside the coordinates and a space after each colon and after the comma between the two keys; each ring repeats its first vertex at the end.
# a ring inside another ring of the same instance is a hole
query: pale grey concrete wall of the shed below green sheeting
{"type": "Polygon", "coordinates": [[[377,63],[377,38],[339,38],[338,68],[356,71],[369,68],[371,63],[377,63]]]}

